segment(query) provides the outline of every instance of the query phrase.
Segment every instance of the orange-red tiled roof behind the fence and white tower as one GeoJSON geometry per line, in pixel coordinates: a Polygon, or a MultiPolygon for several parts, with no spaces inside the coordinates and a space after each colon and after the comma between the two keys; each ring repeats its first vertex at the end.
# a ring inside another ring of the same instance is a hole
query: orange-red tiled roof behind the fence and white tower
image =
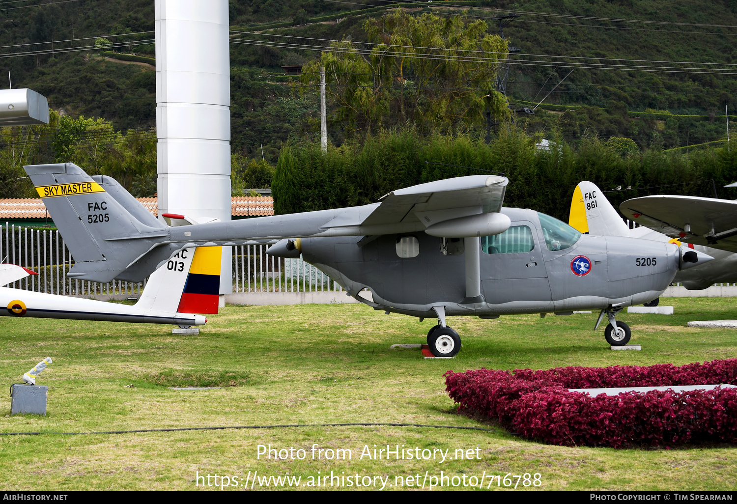
{"type": "MultiPolygon", "coordinates": [[[[158,198],[136,198],[148,211],[158,217],[158,198]]],[[[233,217],[260,217],[274,214],[274,200],[270,196],[234,196],[231,198],[233,217]]],[[[46,206],[36,197],[24,197],[17,200],[0,199],[0,219],[44,219],[46,206]]]]}

